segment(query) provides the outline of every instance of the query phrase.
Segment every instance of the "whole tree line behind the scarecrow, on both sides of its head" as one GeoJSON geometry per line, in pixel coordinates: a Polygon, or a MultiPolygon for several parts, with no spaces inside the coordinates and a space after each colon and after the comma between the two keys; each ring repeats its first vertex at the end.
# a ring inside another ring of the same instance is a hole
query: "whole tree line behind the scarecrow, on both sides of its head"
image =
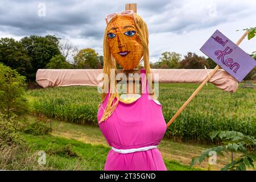
{"type": "MultiPolygon", "coordinates": [[[[251,55],[256,59],[255,53],[251,55]]],[[[27,78],[35,81],[38,69],[101,69],[103,56],[92,48],[80,51],[67,39],[54,35],[26,36],[19,41],[13,38],[0,39],[0,63],[3,63],[27,78]]],[[[176,52],[163,52],[156,63],[151,63],[156,69],[213,69],[216,63],[204,56],[188,52],[184,58],[176,52]]],[[[118,69],[122,69],[117,64],[118,69]]],[[[251,79],[255,68],[247,75],[251,79]]]]}

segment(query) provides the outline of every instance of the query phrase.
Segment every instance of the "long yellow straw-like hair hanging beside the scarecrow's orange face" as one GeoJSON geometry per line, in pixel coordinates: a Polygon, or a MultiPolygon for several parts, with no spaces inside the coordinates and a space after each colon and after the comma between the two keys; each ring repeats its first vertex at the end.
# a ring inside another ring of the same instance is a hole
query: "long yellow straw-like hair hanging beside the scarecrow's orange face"
{"type": "MultiPolygon", "coordinates": [[[[148,73],[150,73],[150,63],[149,63],[149,52],[148,52],[148,29],[147,29],[147,24],[144,22],[144,20],[141,18],[141,16],[137,15],[136,13],[134,13],[135,15],[135,29],[137,30],[137,35],[139,37],[139,39],[141,40],[142,46],[143,46],[143,59],[141,59],[141,61],[139,61],[139,64],[142,63],[142,61],[144,62],[144,69],[146,70],[146,78],[148,78],[148,82],[151,82],[152,77],[151,74],[148,75],[148,73]]],[[[104,78],[102,78],[102,82],[103,82],[103,86],[102,86],[102,90],[107,89],[109,91],[108,88],[104,88],[104,86],[110,86],[110,90],[114,90],[113,92],[109,93],[109,99],[108,99],[108,104],[106,105],[106,109],[104,110],[104,114],[102,115],[99,123],[105,121],[106,119],[108,119],[110,117],[110,115],[112,115],[112,113],[114,112],[115,108],[118,105],[118,102],[120,100],[118,92],[117,92],[117,81],[115,80],[115,74],[110,74],[110,70],[111,69],[116,69],[116,62],[114,60],[114,57],[112,56],[111,52],[110,52],[110,48],[109,48],[109,44],[108,44],[108,29],[110,24],[117,19],[117,16],[114,16],[114,18],[112,18],[110,20],[110,22],[108,23],[108,26],[105,29],[105,34],[104,34],[104,42],[103,42],[103,54],[104,54],[104,67],[103,67],[103,73],[105,73],[106,75],[108,75],[108,77],[110,79],[106,79],[104,80],[104,78]],[[114,80],[114,82],[111,84],[110,80],[114,80]],[[114,86],[114,88],[113,88],[114,86]],[[116,101],[114,101],[116,98],[116,101]]],[[[142,90],[144,90],[144,87],[146,86],[146,79],[144,79],[144,83],[142,83],[142,90]]],[[[105,100],[107,93],[102,92],[102,96],[101,96],[101,104],[102,102],[105,100]]]]}

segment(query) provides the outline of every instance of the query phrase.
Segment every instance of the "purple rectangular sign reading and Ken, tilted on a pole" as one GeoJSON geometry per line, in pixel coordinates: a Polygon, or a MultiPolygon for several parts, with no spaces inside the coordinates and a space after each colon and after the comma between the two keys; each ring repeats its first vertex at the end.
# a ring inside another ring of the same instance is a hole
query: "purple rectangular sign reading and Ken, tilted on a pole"
{"type": "Polygon", "coordinates": [[[256,61],[245,51],[216,30],[200,51],[225,69],[239,82],[253,69],[256,61]]]}

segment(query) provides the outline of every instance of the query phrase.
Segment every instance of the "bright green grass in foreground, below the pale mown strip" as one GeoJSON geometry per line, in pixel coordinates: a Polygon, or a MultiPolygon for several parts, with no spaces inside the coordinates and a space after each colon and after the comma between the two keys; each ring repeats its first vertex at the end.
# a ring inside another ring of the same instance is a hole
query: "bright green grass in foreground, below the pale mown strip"
{"type": "MultiPolygon", "coordinates": [[[[36,151],[49,151],[49,148],[63,148],[67,145],[71,146],[71,150],[77,154],[77,156],[66,156],[64,154],[49,155],[46,152],[47,167],[58,170],[104,170],[106,156],[110,150],[110,147],[106,147],[102,144],[88,144],[79,142],[73,139],[67,139],[63,137],[54,137],[52,135],[34,136],[29,134],[23,134],[26,142],[33,146],[33,150],[36,151]]],[[[189,169],[187,165],[180,164],[174,160],[164,160],[168,170],[200,170],[199,168],[189,169]]]]}

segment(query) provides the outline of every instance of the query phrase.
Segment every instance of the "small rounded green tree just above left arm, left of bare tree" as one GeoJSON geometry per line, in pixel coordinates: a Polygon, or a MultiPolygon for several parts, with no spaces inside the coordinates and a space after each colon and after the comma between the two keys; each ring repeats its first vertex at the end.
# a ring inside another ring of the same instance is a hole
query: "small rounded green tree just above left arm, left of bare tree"
{"type": "Polygon", "coordinates": [[[46,65],[49,69],[71,69],[72,65],[65,60],[63,55],[55,55],[46,65]]]}

